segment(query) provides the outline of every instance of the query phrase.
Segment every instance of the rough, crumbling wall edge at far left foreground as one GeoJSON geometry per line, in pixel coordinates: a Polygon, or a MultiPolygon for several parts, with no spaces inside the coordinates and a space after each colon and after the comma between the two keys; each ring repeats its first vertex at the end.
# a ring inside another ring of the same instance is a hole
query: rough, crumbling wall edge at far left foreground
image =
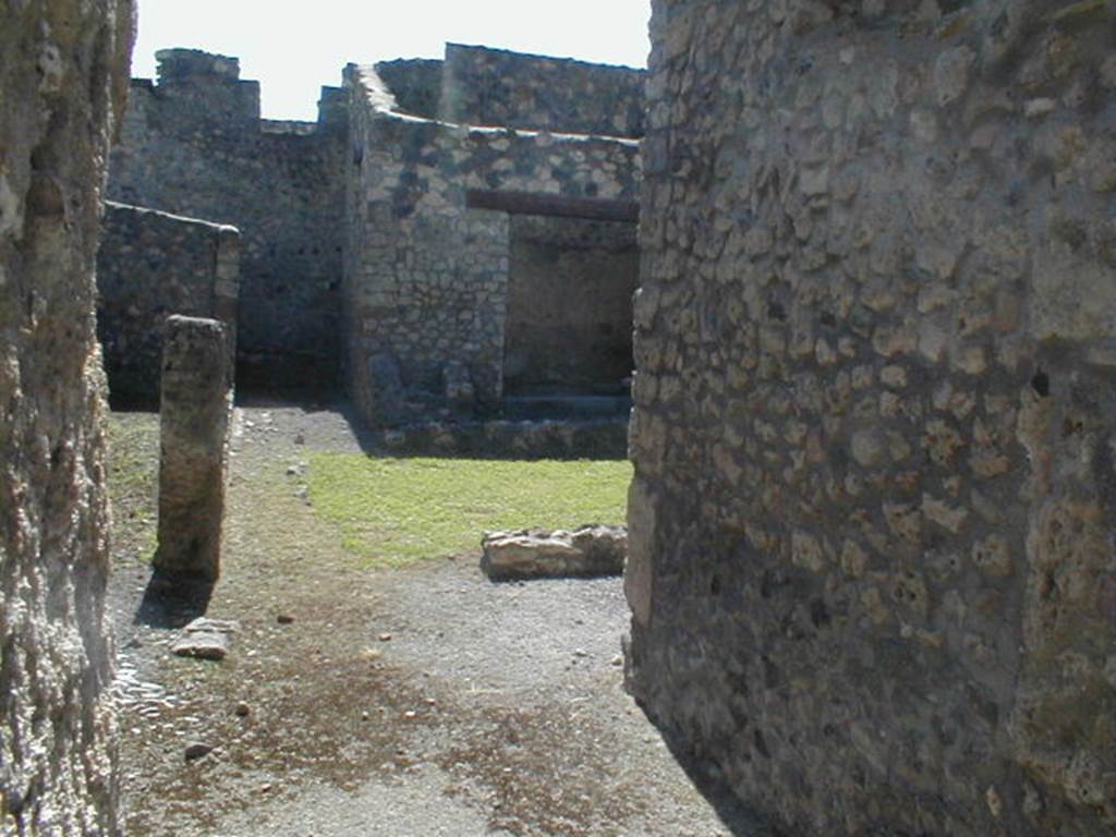
{"type": "Polygon", "coordinates": [[[118,834],[94,254],[132,3],[0,6],[0,833],[118,834]]]}

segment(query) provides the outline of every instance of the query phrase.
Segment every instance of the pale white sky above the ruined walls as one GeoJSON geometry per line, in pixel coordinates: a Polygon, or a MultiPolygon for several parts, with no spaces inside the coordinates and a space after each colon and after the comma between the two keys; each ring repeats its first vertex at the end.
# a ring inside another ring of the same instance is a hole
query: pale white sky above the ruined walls
{"type": "Polygon", "coordinates": [[[349,62],[441,58],[446,41],[644,67],[651,0],[138,0],[132,75],[155,51],[240,58],[263,116],[315,119],[319,89],[349,62]]]}

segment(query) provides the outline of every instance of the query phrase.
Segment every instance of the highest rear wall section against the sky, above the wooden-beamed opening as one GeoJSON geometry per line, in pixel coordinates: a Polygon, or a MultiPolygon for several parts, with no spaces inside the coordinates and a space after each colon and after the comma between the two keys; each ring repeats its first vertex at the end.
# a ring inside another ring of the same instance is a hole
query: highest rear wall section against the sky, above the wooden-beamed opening
{"type": "Polygon", "coordinates": [[[643,136],[645,73],[448,44],[441,116],[571,134],[643,136]]]}

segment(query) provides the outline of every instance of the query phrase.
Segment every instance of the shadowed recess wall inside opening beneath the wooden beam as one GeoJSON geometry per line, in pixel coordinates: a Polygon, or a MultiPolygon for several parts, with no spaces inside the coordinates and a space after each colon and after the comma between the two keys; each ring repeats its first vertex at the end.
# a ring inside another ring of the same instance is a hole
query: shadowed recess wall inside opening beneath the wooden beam
{"type": "Polygon", "coordinates": [[[511,221],[504,389],[618,392],[632,375],[632,223],[511,221]]]}

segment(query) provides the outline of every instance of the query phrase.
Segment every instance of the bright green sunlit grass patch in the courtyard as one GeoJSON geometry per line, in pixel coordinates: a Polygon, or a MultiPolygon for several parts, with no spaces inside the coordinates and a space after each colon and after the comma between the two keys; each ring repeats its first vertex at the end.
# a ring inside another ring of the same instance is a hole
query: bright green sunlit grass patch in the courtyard
{"type": "Polygon", "coordinates": [[[373,459],[317,453],[315,512],[367,566],[402,566],[480,547],[487,531],[625,520],[626,461],[373,459]]]}

